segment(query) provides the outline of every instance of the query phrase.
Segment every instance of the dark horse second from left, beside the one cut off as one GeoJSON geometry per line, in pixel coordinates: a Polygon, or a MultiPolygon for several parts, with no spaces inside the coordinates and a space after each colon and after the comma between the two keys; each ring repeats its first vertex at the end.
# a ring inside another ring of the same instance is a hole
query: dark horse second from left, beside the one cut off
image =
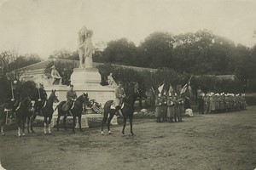
{"type": "Polygon", "coordinates": [[[30,99],[30,97],[26,97],[20,100],[19,105],[13,107],[13,111],[15,112],[15,116],[18,124],[19,137],[21,137],[20,128],[22,128],[22,135],[25,136],[24,129],[25,129],[26,118],[28,115],[30,115],[29,112],[35,111],[34,104],[35,104],[34,100],[30,99]]]}

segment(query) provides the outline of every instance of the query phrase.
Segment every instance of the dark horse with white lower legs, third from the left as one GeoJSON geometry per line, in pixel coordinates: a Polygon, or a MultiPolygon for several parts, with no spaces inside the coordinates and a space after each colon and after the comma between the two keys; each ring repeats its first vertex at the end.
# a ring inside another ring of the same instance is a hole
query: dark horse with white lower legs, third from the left
{"type": "Polygon", "coordinates": [[[44,133],[46,134],[46,127],[48,127],[48,133],[50,133],[50,122],[52,119],[52,115],[54,113],[53,110],[53,103],[59,102],[58,97],[55,94],[56,90],[51,90],[49,98],[46,99],[44,106],[42,107],[41,111],[44,116],[44,133]]]}

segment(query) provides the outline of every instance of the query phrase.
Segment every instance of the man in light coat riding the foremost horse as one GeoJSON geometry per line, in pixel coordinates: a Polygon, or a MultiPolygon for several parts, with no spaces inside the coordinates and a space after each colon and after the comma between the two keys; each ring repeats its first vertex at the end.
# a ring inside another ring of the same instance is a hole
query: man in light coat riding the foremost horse
{"type": "Polygon", "coordinates": [[[125,98],[125,90],[122,82],[119,82],[119,86],[115,88],[114,90],[115,99],[114,99],[114,105],[116,109],[116,116],[122,115],[121,106],[123,104],[123,99],[125,98]]]}

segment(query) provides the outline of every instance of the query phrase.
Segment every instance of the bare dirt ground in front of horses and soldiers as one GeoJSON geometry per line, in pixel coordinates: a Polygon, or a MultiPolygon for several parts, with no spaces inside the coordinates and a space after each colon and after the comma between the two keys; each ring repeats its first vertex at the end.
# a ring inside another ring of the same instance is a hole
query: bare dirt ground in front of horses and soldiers
{"type": "MultiPolygon", "coordinates": [[[[241,169],[256,168],[256,106],[247,111],[195,115],[179,123],[137,119],[135,137],[100,135],[100,128],[72,133],[61,129],[17,138],[0,136],[0,161],[12,169],[241,169]]],[[[105,129],[105,133],[107,130],[105,129]]],[[[1,169],[1,167],[0,167],[1,169]]]]}

